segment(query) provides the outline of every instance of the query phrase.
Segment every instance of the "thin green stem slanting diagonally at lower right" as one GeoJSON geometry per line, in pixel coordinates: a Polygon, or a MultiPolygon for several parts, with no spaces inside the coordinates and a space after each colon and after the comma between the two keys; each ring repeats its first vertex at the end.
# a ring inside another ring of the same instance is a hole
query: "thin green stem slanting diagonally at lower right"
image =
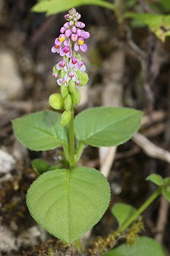
{"type": "Polygon", "coordinates": [[[144,212],[144,210],[146,210],[146,208],[148,208],[148,206],[161,194],[162,192],[162,187],[159,187],[155,190],[155,192],[143,203],[143,205],[141,205],[141,207],[135,212],[135,214],[133,214],[127,221],[125,221],[124,224],[122,224],[122,226],[120,226],[116,232],[114,232],[114,236],[118,236],[120,235],[120,233],[122,233],[122,231],[124,231],[124,229],[126,229],[127,227],[129,227],[133,221],[136,221],[137,218],[139,217],[139,215],[144,212]]]}

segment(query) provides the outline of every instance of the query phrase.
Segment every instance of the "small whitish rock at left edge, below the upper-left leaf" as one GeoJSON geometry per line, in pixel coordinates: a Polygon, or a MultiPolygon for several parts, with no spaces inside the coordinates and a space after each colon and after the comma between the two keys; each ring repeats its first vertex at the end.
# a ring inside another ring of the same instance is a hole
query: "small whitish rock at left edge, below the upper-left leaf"
{"type": "Polygon", "coordinates": [[[5,150],[0,149],[0,175],[4,175],[12,171],[15,165],[16,160],[13,156],[5,152],[5,150]]]}

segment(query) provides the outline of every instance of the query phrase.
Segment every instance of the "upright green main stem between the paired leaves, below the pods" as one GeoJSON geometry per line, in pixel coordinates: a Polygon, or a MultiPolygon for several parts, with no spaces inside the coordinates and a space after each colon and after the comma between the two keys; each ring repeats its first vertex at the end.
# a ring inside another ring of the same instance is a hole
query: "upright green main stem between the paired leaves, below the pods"
{"type": "Polygon", "coordinates": [[[74,111],[71,110],[71,120],[69,122],[69,166],[75,167],[75,141],[74,141],[74,111]]]}

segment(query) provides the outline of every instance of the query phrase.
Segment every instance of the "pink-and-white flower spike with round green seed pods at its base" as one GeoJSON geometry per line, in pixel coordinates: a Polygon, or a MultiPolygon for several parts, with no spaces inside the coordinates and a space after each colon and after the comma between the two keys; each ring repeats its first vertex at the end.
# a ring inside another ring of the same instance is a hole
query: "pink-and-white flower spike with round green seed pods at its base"
{"type": "Polygon", "coordinates": [[[54,46],[51,49],[52,53],[58,53],[63,57],[54,66],[52,75],[56,78],[56,83],[61,86],[61,97],[65,104],[54,103],[54,100],[59,98],[58,96],[53,96],[49,101],[53,108],[54,106],[64,107],[65,112],[61,115],[63,126],[70,121],[69,111],[73,104],[77,106],[80,103],[80,92],[77,86],[86,85],[88,82],[88,74],[85,72],[86,66],[78,51],[87,51],[88,46],[85,40],[90,38],[90,33],[84,31],[85,24],[79,21],[80,18],[81,15],[75,8],[69,10],[65,15],[67,22],[61,27],[61,34],[55,39],[54,46]]]}

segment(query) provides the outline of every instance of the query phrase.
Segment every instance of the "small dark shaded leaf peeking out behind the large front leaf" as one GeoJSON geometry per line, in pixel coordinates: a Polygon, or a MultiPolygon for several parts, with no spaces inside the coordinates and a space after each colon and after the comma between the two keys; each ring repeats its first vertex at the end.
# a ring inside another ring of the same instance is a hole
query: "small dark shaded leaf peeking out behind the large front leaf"
{"type": "Polygon", "coordinates": [[[50,165],[49,162],[39,158],[32,160],[31,165],[38,175],[41,175],[46,171],[59,169],[58,166],[50,165]]]}

